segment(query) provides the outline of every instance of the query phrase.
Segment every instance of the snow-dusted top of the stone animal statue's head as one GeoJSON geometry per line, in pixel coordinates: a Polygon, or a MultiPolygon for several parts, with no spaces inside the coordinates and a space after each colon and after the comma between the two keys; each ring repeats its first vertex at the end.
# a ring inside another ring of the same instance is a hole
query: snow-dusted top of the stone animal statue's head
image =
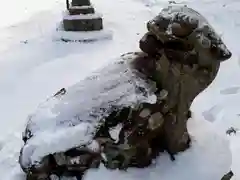
{"type": "Polygon", "coordinates": [[[200,13],[186,6],[169,6],[147,23],[148,30],[163,43],[181,40],[193,45],[198,53],[207,53],[224,61],[232,53],[209,22],[200,13]]]}

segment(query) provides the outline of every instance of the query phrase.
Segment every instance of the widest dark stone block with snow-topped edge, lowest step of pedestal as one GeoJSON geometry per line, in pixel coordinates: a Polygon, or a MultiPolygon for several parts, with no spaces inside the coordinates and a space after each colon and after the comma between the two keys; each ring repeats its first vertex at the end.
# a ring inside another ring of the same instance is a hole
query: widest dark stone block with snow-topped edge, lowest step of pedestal
{"type": "Polygon", "coordinates": [[[68,15],[63,18],[65,31],[97,31],[103,29],[102,17],[97,14],[68,15]]]}

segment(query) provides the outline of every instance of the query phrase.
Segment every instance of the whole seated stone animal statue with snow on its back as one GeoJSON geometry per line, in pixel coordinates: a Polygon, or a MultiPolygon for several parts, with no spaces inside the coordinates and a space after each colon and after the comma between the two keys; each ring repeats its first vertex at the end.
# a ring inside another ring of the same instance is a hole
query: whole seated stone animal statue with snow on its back
{"type": "Polygon", "coordinates": [[[142,168],[162,151],[175,160],[191,147],[190,105],[231,53],[191,8],[163,9],[147,28],[142,52],[61,89],[29,116],[19,158],[28,180],[81,179],[100,163],[142,168]]]}

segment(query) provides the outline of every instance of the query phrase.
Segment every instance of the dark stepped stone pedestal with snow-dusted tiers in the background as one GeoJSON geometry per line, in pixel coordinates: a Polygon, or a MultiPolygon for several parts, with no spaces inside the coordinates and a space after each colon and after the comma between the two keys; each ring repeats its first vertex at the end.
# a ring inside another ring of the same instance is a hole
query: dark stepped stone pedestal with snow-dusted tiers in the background
{"type": "Polygon", "coordinates": [[[72,0],[63,18],[65,31],[99,31],[103,29],[102,17],[95,13],[89,0],[72,0]]]}

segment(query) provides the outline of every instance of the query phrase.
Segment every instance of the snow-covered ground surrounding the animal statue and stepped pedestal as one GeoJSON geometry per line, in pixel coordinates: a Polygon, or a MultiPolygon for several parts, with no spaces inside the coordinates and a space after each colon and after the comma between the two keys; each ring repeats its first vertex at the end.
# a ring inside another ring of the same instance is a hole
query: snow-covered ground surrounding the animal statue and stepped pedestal
{"type": "MultiPolygon", "coordinates": [[[[233,53],[222,64],[214,83],[194,104],[188,129],[193,147],[171,162],[161,156],[156,165],[128,172],[100,168],[87,180],[219,180],[232,168],[240,180],[240,134],[226,136],[233,126],[240,129],[240,2],[238,0],[186,0],[215,27],[233,53]]],[[[0,180],[24,180],[17,163],[26,117],[37,105],[62,87],[71,86],[93,70],[124,52],[138,50],[146,31],[145,22],[154,17],[167,0],[93,0],[104,15],[112,40],[94,43],[53,41],[61,20],[64,1],[4,1],[0,12],[0,180]],[[9,9],[11,7],[11,9],[9,9]],[[11,15],[7,13],[11,12],[11,15]],[[7,18],[7,19],[6,19],[7,18]]]]}

